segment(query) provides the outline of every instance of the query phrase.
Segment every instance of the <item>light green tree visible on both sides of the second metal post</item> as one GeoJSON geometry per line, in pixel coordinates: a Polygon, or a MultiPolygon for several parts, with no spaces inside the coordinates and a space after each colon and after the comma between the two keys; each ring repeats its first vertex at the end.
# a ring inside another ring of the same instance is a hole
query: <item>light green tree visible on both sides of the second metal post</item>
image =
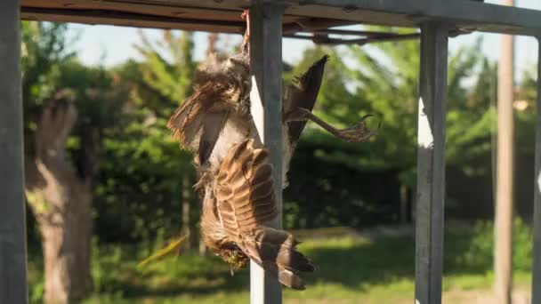
{"type": "MultiPolygon", "coordinates": [[[[350,52],[359,65],[351,71],[358,88],[358,99],[366,100],[366,110],[381,116],[383,121],[377,139],[370,143],[371,150],[375,151],[376,157],[383,158],[379,163],[410,172],[416,166],[419,44],[416,41],[375,44],[370,52],[352,46],[350,52]]],[[[490,88],[486,81],[494,68],[484,60],[474,89],[468,90],[464,85],[466,79],[475,75],[483,60],[480,41],[460,48],[450,54],[448,60],[446,140],[449,164],[467,161],[463,157],[471,155],[468,149],[478,148],[479,139],[487,140],[490,136],[493,115],[489,112],[490,99],[486,94],[490,94],[494,86],[490,88]],[[483,118],[479,119],[480,116],[483,118]]],[[[404,177],[401,182],[414,185],[415,176],[401,176],[404,177]]]]}

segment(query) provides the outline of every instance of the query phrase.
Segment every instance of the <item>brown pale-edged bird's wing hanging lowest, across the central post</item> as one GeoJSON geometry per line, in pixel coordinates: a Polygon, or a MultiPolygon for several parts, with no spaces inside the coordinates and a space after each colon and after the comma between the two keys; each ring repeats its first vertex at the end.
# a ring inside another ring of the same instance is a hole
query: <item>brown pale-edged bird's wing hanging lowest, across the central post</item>
{"type": "Polygon", "coordinates": [[[269,152],[246,140],[230,148],[215,188],[222,227],[250,259],[278,276],[282,284],[303,289],[297,271],[313,271],[310,260],[296,251],[294,237],[265,227],[279,213],[269,152]]]}

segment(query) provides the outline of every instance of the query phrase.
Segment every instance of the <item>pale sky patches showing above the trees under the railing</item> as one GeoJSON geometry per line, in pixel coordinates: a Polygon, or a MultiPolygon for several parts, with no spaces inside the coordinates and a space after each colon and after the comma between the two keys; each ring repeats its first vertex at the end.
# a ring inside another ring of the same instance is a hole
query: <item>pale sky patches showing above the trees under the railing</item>
{"type": "MultiPolygon", "coordinates": [[[[487,3],[498,4],[500,0],[487,0],[487,3]]],[[[515,0],[516,1],[516,0],[515,0]]],[[[518,0],[516,6],[541,10],[541,0],[518,0]]],[[[112,26],[86,26],[80,24],[70,25],[73,33],[79,34],[75,45],[80,59],[87,64],[104,63],[115,65],[129,58],[139,58],[138,52],[133,44],[140,41],[137,28],[122,28],[112,26]]],[[[159,38],[161,30],[145,29],[145,35],[151,38],[159,38]]],[[[451,52],[464,44],[472,44],[479,36],[483,36],[483,52],[489,58],[496,60],[498,55],[498,35],[475,33],[467,36],[459,36],[450,40],[451,52]]],[[[237,41],[239,36],[225,37],[225,40],[237,41]]],[[[206,33],[195,34],[195,56],[201,59],[206,49],[206,33]]],[[[284,60],[294,63],[300,59],[303,49],[311,46],[311,42],[296,39],[284,39],[283,55],[284,60]]],[[[517,76],[521,71],[531,68],[537,62],[537,43],[530,37],[517,37],[516,39],[516,68],[517,76]]]]}

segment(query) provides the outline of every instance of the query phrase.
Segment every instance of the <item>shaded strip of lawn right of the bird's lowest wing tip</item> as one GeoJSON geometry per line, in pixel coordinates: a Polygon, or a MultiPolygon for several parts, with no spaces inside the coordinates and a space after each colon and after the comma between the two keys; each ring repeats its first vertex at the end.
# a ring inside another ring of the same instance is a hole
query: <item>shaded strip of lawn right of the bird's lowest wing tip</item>
{"type": "MultiPolygon", "coordinates": [[[[482,248],[472,233],[448,232],[444,244],[445,275],[484,275],[492,267],[491,249],[482,248]],[[481,248],[480,248],[481,247],[481,248]]],[[[381,236],[370,242],[305,250],[316,265],[309,284],[341,284],[363,291],[373,284],[415,279],[415,239],[381,236]]]]}

